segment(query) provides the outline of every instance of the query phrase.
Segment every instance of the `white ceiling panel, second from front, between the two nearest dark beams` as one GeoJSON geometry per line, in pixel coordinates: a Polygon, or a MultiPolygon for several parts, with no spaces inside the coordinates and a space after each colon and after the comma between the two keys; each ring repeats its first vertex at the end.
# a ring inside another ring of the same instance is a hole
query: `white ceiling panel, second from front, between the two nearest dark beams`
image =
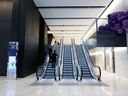
{"type": "Polygon", "coordinates": [[[59,17],[97,17],[103,12],[104,8],[78,8],[78,9],[39,9],[44,18],[59,17]]]}

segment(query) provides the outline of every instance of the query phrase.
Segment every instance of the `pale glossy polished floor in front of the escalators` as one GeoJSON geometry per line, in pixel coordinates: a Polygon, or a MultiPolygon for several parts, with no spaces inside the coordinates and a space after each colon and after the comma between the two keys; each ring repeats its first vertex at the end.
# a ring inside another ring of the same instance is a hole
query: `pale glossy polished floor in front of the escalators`
{"type": "Polygon", "coordinates": [[[102,73],[102,81],[40,80],[0,77],[0,96],[128,96],[128,78],[102,73]]]}

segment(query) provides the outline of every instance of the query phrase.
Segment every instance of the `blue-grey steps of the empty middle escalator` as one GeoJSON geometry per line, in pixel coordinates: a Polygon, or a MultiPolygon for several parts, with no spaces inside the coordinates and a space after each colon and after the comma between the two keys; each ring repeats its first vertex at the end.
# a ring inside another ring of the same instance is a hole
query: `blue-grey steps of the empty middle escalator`
{"type": "Polygon", "coordinates": [[[64,45],[64,54],[63,54],[63,79],[73,79],[73,64],[72,64],[72,54],[71,54],[71,45],[64,45]]]}

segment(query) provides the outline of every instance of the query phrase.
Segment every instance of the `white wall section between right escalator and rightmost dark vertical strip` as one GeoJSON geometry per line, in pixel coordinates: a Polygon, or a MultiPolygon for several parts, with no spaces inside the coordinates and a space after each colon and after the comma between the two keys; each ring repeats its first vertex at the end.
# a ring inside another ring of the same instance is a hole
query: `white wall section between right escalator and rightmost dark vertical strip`
{"type": "Polygon", "coordinates": [[[114,71],[111,47],[97,47],[95,49],[91,49],[89,52],[91,57],[95,58],[95,65],[100,66],[102,70],[106,70],[108,72],[114,71]]]}

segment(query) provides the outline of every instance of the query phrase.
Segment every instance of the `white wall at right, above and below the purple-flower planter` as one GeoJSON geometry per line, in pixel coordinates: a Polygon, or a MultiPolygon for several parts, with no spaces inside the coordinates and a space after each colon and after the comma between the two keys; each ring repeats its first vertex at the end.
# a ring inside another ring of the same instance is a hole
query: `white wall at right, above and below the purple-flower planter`
{"type": "MultiPolygon", "coordinates": [[[[107,18],[107,15],[115,12],[115,11],[128,11],[128,0],[114,0],[113,3],[109,6],[109,8],[105,11],[105,13],[101,16],[101,18],[107,18]]],[[[100,22],[100,24],[103,24],[104,22],[100,22]]],[[[88,34],[85,36],[85,40],[89,38],[92,33],[95,33],[95,26],[92,27],[92,29],[88,32],[88,34]]],[[[99,53],[100,51],[103,51],[102,48],[93,49],[91,50],[91,54],[99,53]]],[[[108,60],[106,63],[109,65],[106,65],[106,71],[112,72],[112,54],[110,53],[111,49],[106,49],[106,54],[109,56],[107,57],[108,60]],[[108,52],[107,52],[108,51],[108,52]]],[[[103,55],[103,52],[100,52],[100,54],[95,54],[96,62],[98,65],[101,66],[102,69],[104,69],[104,58],[105,54],[103,55]],[[103,59],[103,60],[101,60],[103,59]]],[[[115,55],[115,72],[118,75],[128,77],[128,51],[127,47],[122,48],[114,48],[114,55],[115,55]]]]}

